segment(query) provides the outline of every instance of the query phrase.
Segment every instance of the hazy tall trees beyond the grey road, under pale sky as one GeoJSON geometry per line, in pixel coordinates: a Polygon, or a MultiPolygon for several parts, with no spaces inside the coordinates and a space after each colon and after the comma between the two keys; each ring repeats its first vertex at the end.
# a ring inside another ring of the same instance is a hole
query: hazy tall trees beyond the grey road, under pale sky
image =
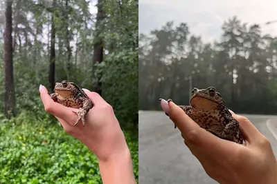
{"type": "Polygon", "coordinates": [[[277,38],[261,26],[231,17],[211,43],[174,21],[140,34],[139,110],[188,105],[193,88],[213,86],[236,113],[277,114],[277,38]]]}

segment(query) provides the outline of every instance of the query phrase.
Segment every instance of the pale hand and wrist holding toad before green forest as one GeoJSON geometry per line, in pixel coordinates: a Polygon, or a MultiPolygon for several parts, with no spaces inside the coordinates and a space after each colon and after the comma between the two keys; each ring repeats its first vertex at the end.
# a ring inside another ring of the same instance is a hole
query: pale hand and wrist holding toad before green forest
{"type": "Polygon", "coordinates": [[[78,119],[73,112],[75,109],[55,103],[43,85],[39,92],[46,112],[53,114],[67,133],[87,145],[96,155],[104,184],[136,183],[131,154],[111,105],[96,92],[84,90],[94,107],[85,117],[86,126],[78,123],[74,127],[78,119]]]}

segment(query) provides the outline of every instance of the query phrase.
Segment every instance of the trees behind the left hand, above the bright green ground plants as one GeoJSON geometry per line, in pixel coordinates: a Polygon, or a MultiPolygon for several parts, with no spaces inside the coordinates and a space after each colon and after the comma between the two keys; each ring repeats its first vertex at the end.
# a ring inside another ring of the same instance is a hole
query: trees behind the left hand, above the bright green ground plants
{"type": "Polygon", "coordinates": [[[99,92],[120,123],[137,125],[138,6],[137,0],[0,3],[0,112],[10,119],[28,110],[41,118],[39,84],[52,92],[65,79],[99,92]]]}

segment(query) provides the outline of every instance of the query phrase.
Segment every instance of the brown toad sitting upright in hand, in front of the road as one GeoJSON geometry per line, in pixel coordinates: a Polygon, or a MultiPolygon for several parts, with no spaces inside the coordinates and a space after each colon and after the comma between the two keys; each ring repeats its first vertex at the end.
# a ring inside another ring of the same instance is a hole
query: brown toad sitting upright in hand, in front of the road
{"type": "Polygon", "coordinates": [[[193,121],[215,136],[239,144],[244,143],[238,121],[226,108],[220,93],[216,92],[215,88],[209,87],[202,90],[194,88],[192,93],[190,105],[179,105],[179,107],[193,121]]]}

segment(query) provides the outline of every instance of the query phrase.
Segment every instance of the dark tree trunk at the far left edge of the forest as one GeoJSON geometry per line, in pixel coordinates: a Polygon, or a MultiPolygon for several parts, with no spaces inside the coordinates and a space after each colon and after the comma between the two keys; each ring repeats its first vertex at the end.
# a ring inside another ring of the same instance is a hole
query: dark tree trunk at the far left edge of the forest
{"type": "Polygon", "coordinates": [[[12,1],[6,0],[5,41],[5,114],[10,119],[15,116],[15,86],[12,65],[12,1]]]}

